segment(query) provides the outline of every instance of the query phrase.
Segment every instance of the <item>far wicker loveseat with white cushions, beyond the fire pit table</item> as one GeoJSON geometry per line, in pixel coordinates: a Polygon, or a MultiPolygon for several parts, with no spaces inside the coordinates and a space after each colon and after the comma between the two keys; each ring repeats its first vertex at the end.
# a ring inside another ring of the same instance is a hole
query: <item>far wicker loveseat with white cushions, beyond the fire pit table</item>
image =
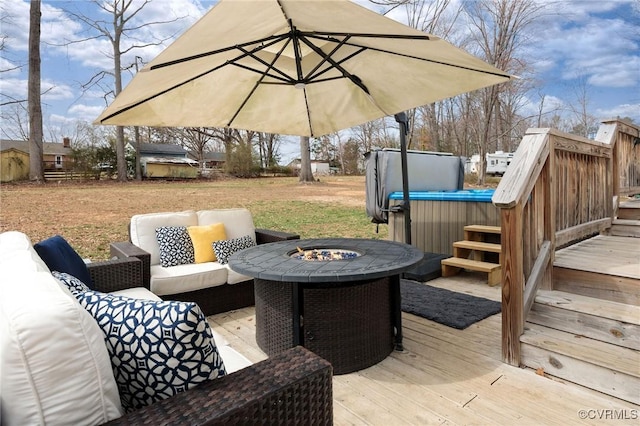
{"type": "Polygon", "coordinates": [[[219,262],[163,267],[156,230],[160,227],[201,227],[223,224],[226,238],[249,235],[256,244],[299,239],[297,234],[256,229],[247,209],[217,209],[139,214],[131,218],[129,241],[111,244],[115,258],[142,260],[144,286],[158,296],[194,301],[206,315],[254,304],[253,279],[219,262]]]}

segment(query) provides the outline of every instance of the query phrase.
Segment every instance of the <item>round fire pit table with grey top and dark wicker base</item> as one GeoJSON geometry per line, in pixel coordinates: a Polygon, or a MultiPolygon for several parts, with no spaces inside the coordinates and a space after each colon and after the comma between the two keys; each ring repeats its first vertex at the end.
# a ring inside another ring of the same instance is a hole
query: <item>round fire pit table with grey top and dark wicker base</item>
{"type": "Polygon", "coordinates": [[[423,255],[393,241],[323,238],[261,244],[229,266],[254,277],[256,340],[267,355],[302,345],[345,374],[402,350],[400,274],[423,255]]]}

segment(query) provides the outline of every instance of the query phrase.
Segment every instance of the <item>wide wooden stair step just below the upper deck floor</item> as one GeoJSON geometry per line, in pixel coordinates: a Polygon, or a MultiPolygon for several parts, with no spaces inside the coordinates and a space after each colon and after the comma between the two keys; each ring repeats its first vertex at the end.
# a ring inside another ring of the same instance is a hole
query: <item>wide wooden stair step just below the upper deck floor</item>
{"type": "Polygon", "coordinates": [[[640,306],[539,290],[527,321],[640,350],[640,306]]]}

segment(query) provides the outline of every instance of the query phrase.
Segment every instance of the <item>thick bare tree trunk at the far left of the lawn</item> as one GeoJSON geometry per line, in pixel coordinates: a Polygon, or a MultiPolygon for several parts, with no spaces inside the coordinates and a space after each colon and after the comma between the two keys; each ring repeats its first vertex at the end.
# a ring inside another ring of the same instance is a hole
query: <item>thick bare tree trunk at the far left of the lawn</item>
{"type": "Polygon", "coordinates": [[[44,182],[42,104],[40,102],[40,0],[29,10],[29,179],[44,182]]]}

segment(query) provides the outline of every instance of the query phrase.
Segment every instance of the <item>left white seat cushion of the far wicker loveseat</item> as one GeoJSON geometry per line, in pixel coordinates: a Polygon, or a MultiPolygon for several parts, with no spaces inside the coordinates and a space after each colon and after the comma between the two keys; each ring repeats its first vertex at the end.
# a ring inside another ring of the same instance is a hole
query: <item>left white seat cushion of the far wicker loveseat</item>
{"type": "Polygon", "coordinates": [[[215,287],[227,282],[225,265],[218,262],[192,263],[163,268],[151,266],[151,291],[158,296],[215,287]]]}

